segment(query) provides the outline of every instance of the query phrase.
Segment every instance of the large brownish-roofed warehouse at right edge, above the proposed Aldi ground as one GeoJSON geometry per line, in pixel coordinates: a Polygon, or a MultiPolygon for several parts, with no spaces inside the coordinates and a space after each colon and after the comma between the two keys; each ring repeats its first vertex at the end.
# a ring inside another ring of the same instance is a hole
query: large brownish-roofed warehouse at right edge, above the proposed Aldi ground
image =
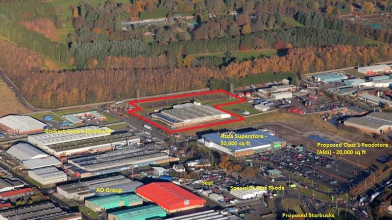
{"type": "Polygon", "coordinates": [[[392,131],[392,114],[371,112],[363,117],[352,117],[344,121],[345,126],[354,127],[366,133],[385,133],[392,131]]]}

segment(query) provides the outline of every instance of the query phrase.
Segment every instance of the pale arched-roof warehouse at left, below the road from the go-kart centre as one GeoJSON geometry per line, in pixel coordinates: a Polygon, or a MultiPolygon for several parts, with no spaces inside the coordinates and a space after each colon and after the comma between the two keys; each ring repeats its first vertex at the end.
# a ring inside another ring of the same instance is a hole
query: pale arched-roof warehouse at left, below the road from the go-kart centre
{"type": "Polygon", "coordinates": [[[12,155],[19,160],[31,160],[49,156],[48,154],[38,150],[37,148],[27,144],[19,143],[11,146],[6,153],[12,155]]]}

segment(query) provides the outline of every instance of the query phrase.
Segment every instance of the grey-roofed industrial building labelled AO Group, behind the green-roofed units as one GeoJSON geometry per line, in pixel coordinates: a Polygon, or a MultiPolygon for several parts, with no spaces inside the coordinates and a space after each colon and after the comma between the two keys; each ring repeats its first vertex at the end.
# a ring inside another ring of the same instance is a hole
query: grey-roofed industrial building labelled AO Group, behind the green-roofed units
{"type": "Polygon", "coordinates": [[[125,176],[118,175],[57,186],[57,192],[59,195],[68,199],[83,200],[92,196],[117,194],[117,192],[107,192],[106,189],[117,189],[122,193],[131,193],[135,192],[136,188],[140,186],[143,186],[143,183],[139,181],[132,181],[125,176]],[[97,192],[98,188],[104,189],[104,191],[97,192]]]}

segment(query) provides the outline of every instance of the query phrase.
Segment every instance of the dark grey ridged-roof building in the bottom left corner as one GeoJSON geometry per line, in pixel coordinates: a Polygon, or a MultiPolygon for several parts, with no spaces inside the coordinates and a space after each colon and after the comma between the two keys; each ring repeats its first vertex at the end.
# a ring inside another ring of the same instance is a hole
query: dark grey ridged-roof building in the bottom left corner
{"type": "Polygon", "coordinates": [[[27,205],[0,211],[0,220],[42,220],[67,214],[51,202],[27,205]]]}

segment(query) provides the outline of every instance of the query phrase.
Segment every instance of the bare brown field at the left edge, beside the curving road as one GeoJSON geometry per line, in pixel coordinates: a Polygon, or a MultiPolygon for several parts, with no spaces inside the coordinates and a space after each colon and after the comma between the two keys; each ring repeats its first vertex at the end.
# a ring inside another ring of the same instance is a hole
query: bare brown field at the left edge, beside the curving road
{"type": "Polygon", "coordinates": [[[0,116],[6,114],[21,114],[31,112],[16,98],[15,93],[0,80],[0,116]]]}

